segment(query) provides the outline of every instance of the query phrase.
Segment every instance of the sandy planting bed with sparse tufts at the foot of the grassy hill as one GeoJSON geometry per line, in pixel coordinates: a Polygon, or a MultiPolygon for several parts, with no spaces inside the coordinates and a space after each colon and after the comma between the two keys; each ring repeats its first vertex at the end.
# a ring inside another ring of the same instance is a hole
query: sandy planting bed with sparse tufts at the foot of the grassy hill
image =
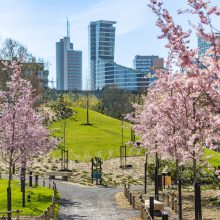
{"type": "MultiPolygon", "coordinates": [[[[144,157],[128,157],[127,164],[132,165],[132,169],[121,169],[120,159],[115,158],[103,161],[102,164],[102,178],[103,184],[108,186],[120,186],[124,183],[131,185],[143,185],[144,179],[144,157]]],[[[60,160],[45,157],[32,161],[28,166],[39,175],[45,176],[49,170],[59,170],[60,160]]],[[[0,162],[2,172],[7,172],[6,164],[0,162]]],[[[16,167],[16,172],[19,173],[20,167],[16,167]]],[[[73,172],[70,178],[71,182],[83,185],[91,185],[91,163],[78,163],[69,161],[69,169],[73,172]]],[[[28,172],[28,171],[27,171],[28,172]]]]}

